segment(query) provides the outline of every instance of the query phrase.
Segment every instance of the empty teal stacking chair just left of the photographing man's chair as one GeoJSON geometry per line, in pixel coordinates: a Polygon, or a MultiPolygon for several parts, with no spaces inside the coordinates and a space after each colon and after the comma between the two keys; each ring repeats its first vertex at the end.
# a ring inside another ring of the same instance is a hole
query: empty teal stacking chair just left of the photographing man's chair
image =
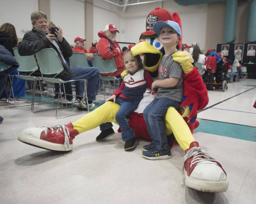
{"type": "MultiPolygon", "coordinates": [[[[11,91],[13,92],[13,88],[12,88],[13,77],[19,77],[19,78],[27,80],[27,81],[32,81],[33,89],[32,89],[31,111],[34,112],[35,87],[37,85],[37,81],[40,81],[40,79],[38,77],[33,76],[33,73],[38,70],[36,59],[35,59],[34,55],[20,56],[17,47],[13,48],[13,52],[14,52],[14,58],[20,64],[20,66],[17,69],[19,71],[18,75],[9,75],[10,82],[11,82],[11,91]],[[27,75],[22,74],[22,72],[26,72],[27,75]]],[[[41,90],[41,86],[40,86],[40,90],[41,90]]],[[[10,97],[11,97],[11,94],[9,94],[9,101],[10,101],[10,97]]],[[[14,97],[14,94],[13,94],[13,97],[14,97]]],[[[42,94],[41,94],[41,100],[42,100],[42,94]]],[[[14,104],[15,104],[15,98],[14,98],[14,104]]],[[[38,104],[38,103],[36,103],[36,104],[38,104]]],[[[27,106],[27,105],[30,105],[30,104],[11,105],[11,103],[8,103],[9,108],[15,107],[15,106],[27,106]]]]}

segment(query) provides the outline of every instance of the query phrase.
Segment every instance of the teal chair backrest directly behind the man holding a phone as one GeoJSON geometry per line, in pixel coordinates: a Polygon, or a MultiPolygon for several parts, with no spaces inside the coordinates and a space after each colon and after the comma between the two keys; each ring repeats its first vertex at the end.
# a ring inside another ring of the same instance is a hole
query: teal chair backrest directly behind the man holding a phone
{"type": "Polygon", "coordinates": [[[60,74],[63,71],[60,58],[53,48],[46,48],[35,53],[40,67],[40,72],[44,75],[60,74]]]}

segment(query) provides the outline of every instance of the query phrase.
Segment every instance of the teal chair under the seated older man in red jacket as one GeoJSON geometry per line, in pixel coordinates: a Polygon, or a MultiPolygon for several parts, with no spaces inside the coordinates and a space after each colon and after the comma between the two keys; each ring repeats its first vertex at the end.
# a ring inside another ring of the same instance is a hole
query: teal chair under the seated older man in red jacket
{"type": "Polygon", "coordinates": [[[103,91],[104,91],[104,99],[105,95],[109,95],[115,91],[116,88],[119,87],[119,80],[116,77],[111,77],[110,75],[117,71],[117,67],[114,61],[114,58],[110,60],[103,60],[99,54],[94,54],[94,58],[92,59],[94,67],[98,68],[101,74],[110,73],[109,76],[104,77],[100,76],[100,79],[103,80],[103,91]],[[114,86],[110,86],[110,81],[114,82],[114,86]],[[116,83],[117,82],[117,83],[116,83]],[[108,86],[109,85],[109,86],[108,86]],[[110,91],[107,93],[106,89],[110,87],[110,91]]]}

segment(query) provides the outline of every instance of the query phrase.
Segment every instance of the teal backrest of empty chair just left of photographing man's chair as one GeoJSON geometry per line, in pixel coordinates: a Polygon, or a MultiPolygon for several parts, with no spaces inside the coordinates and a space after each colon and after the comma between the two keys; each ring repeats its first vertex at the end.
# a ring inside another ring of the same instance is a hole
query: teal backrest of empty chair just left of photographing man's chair
{"type": "Polygon", "coordinates": [[[17,47],[13,47],[14,58],[20,64],[18,71],[34,72],[38,70],[38,66],[34,55],[20,56],[17,47]]]}

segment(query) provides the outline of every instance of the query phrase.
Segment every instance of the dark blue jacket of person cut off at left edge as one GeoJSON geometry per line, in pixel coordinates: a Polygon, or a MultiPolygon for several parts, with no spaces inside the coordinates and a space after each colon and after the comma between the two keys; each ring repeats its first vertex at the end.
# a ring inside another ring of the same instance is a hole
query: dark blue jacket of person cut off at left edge
{"type": "Polygon", "coordinates": [[[16,70],[20,65],[19,63],[14,59],[12,53],[10,51],[8,51],[3,45],[0,45],[0,62],[4,62],[8,66],[8,68],[3,67],[3,64],[1,65],[0,69],[0,75],[6,75],[8,73],[10,73],[13,70],[16,70]]]}

